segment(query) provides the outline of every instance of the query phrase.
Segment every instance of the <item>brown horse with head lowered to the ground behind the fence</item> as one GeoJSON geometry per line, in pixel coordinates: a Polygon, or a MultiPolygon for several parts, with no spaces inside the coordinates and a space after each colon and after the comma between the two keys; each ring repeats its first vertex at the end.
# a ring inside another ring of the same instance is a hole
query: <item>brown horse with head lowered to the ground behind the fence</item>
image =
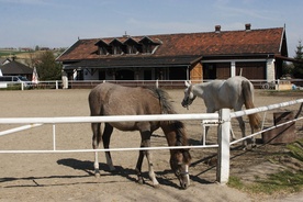
{"type": "MultiPolygon", "coordinates": [[[[91,90],[89,94],[91,116],[98,115],[143,115],[143,114],[172,114],[176,113],[168,101],[168,94],[161,89],[130,88],[113,83],[101,83],[91,90]]],[[[148,122],[112,122],[105,123],[103,135],[100,132],[101,123],[92,123],[92,147],[97,149],[101,137],[104,148],[109,148],[113,127],[120,131],[139,131],[141,147],[150,146],[150,136],[154,131],[161,127],[169,146],[187,146],[188,138],[183,123],[180,121],[148,121],[148,122]]],[[[149,150],[139,150],[136,165],[138,182],[143,183],[142,162],[147,158],[149,178],[153,184],[158,186],[149,150]]],[[[111,154],[105,153],[106,164],[114,170],[111,154]]],[[[189,165],[191,156],[189,149],[170,149],[170,167],[186,189],[190,184],[189,165]]],[[[94,153],[94,171],[99,176],[98,154],[94,153]]]]}

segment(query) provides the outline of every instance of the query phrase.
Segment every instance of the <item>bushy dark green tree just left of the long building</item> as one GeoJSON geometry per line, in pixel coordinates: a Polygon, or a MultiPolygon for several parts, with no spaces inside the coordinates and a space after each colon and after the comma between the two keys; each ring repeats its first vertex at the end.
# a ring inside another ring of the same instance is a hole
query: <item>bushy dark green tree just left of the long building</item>
{"type": "Polygon", "coordinates": [[[61,65],[57,64],[53,52],[44,52],[36,66],[40,80],[61,79],[61,65]]]}

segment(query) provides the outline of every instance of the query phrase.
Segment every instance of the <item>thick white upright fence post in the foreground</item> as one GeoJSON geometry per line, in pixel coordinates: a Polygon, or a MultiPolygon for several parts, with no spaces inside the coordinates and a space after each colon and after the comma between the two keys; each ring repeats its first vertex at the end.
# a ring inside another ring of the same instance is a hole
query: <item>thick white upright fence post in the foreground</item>
{"type": "Polygon", "coordinates": [[[218,111],[217,128],[217,167],[216,181],[221,184],[228,182],[229,178],[229,133],[231,133],[231,110],[222,109],[218,111]]]}

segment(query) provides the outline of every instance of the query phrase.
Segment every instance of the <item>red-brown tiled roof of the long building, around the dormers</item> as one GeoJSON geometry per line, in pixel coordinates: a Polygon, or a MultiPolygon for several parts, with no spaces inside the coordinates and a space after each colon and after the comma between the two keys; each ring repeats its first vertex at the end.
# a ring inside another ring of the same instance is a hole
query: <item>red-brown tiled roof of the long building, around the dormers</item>
{"type": "Polygon", "coordinates": [[[214,56],[246,54],[280,54],[284,29],[262,29],[243,31],[221,31],[207,33],[162,34],[148,36],[131,36],[138,42],[148,37],[160,45],[154,54],[137,55],[98,55],[98,43],[102,40],[125,42],[127,37],[106,37],[77,41],[67,52],[57,58],[58,61],[79,61],[83,59],[122,59],[122,58],[161,58],[179,56],[214,56]]]}

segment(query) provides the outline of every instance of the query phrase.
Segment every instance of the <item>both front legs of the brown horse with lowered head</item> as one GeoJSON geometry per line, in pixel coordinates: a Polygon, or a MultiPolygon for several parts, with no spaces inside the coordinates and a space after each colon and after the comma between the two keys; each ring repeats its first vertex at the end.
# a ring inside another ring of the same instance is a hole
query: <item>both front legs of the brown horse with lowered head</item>
{"type": "MultiPolygon", "coordinates": [[[[150,132],[142,132],[142,143],[141,143],[141,147],[150,147],[150,132]]],[[[147,164],[148,164],[148,176],[150,178],[150,180],[153,181],[154,187],[159,186],[158,180],[156,179],[156,175],[154,171],[154,166],[153,166],[153,161],[152,161],[152,154],[149,153],[149,150],[139,150],[139,157],[137,160],[137,165],[136,165],[136,171],[137,171],[137,176],[138,176],[138,182],[143,183],[143,177],[142,177],[142,162],[143,162],[143,158],[144,156],[146,156],[147,159],[147,164]]]]}

